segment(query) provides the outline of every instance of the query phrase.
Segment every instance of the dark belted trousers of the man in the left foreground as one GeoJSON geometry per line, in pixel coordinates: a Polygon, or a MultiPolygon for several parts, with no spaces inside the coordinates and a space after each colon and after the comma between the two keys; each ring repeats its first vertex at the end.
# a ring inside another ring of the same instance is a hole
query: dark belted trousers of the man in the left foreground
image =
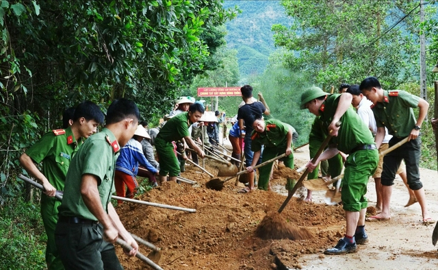
{"type": "Polygon", "coordinates": [[[66,269],[123,270],[101,224],[58,222],[55,240],[66,269]]]}

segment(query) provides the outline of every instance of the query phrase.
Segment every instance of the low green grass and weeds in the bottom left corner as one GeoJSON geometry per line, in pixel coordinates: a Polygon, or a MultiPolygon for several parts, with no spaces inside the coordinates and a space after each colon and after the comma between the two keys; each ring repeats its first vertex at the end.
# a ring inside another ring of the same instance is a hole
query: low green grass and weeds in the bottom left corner
{"type": "Polygon", "coordinates": [[[15,198],[0,208],[0,269],[44,269],[46,241],[39,206],[15,198]]]}

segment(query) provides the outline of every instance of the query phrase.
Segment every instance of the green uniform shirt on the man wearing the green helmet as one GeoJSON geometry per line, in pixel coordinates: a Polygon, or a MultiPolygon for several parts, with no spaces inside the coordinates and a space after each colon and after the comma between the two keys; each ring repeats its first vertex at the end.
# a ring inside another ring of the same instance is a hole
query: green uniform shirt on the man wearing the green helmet
{"type": "MultiPolygon", "coordinates": [[[[327,99],[322,103],[320,108],[320,119],[324,126],[329,127],[333,116],[335,115],[337,104],[339,103],[340,94],[328,95],[327,99]]],[[[359,115],[349,107],[344,115],[342,115],[341,126],[337,136],[333,137],[330,143],[335,143],[339,151],[345,154],[350,154],[350,151],[360,145],[371,145],[374,143],[374,138],[368,125],[365,125],[359,115]]]]}

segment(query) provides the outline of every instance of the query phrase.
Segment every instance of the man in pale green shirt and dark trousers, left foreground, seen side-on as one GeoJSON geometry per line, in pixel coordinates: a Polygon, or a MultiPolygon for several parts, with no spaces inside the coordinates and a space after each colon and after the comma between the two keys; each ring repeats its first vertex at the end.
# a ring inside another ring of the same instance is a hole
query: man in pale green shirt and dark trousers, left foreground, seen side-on
{"type": "Polygon", "coordinates": [[[136,132],[139,117],[133,101],[113,101],[105,128],[88,138],[71,162],[55,230],[66,269],[123,269],[112,245],[118,236],[131,245],[129,256],[138,251],[110,199],[120,147],[136,132]]]}

